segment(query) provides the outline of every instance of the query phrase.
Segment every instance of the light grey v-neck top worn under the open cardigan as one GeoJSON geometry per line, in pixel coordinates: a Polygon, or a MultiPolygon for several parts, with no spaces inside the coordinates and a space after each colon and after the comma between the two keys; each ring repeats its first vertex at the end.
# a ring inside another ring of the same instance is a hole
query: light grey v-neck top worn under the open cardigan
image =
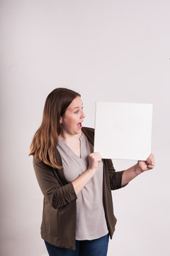
{"type": "MultiPolygon", "coordinates": [[[[59,140],[57,149],[62,158],[64,176],[72,182],[89,167],[89,154],[94,146],[86,135],[81,135],[80,155],[72,151],[67,143],[59,140]]],[[[72,214],[72,213],[70,213],[72,214]]],[[[103,161],[98,163],[98,171],[77,195],[77,227],[76,240],[93,240],[108,234],[103,208],[103,161]]]]}

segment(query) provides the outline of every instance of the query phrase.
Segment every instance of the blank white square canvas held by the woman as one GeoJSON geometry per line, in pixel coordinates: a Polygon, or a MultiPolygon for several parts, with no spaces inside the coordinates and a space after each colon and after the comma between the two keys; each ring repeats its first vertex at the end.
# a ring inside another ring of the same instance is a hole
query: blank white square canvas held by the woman
{"type": "Polygon", "coordinates": [[[102,159],[145,161],[151,153],[152,106],[96,102],[94,152],[102,159]]]}

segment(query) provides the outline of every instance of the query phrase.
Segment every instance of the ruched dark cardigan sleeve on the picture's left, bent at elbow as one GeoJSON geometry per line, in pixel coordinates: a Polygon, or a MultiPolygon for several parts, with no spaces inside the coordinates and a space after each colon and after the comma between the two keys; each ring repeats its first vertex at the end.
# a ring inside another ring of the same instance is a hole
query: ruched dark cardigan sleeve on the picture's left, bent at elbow
{"type": "Polygon", "coordinates": [[[33,168],[40,190],[50,205],[57,209],[77,199],[72,182],[60,185],[52,167],[33,156],[33,168]]]}

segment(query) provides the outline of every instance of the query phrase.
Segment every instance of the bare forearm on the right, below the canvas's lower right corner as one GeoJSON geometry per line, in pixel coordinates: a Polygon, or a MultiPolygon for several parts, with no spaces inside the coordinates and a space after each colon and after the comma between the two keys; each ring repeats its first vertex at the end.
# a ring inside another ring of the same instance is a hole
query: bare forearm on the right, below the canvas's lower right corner
{"type": "Polygon", "coordinates": [[[128,182],[132,181],[133,178],[135,178],[137,175],[142,174],[142,171],[137,167],[137,164],[130,167],[129,169],[123,171],[122,176],[122,186],[127,184],[128,182]]]}

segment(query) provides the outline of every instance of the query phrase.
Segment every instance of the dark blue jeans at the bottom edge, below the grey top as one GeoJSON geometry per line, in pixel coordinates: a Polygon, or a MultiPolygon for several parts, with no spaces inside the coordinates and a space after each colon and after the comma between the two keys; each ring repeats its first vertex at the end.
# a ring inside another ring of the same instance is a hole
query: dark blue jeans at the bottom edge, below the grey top
{"type": "Polygon", "coordinates": [[[106,256],[108,240],[108,234],[94,240],[76,240],[76,250],[57,247],[44,241],[50,256],[106,256]]]}

